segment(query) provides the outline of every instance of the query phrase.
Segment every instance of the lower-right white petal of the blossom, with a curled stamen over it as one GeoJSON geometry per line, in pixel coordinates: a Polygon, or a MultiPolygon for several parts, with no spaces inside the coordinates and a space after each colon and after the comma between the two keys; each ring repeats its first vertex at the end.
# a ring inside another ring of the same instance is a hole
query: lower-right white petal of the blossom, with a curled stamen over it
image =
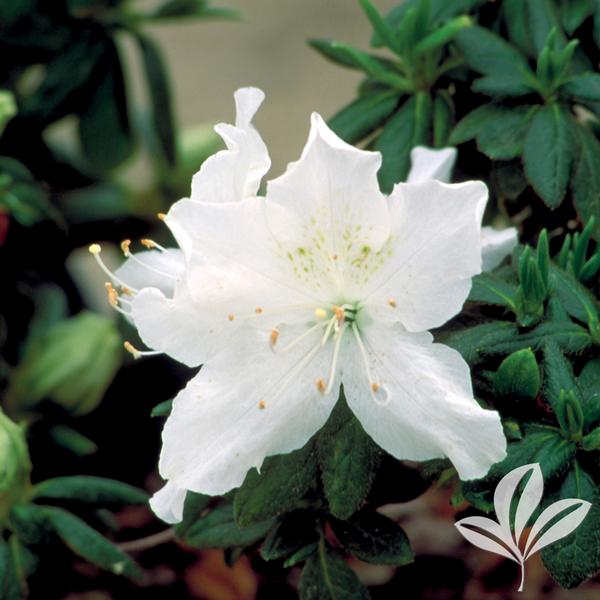
{"type": "Polygon", "coordinates": [[[473,398],[469,367],[458,352],[432,344],[428,333],[400,326],[361,332],[373,380],[373,400],[356,347],[344,348],[342,381],[348,404],[365,431],[399,459],[448,457],[461,479],[483,477],[506,454],[497,412],[473,398]]]}

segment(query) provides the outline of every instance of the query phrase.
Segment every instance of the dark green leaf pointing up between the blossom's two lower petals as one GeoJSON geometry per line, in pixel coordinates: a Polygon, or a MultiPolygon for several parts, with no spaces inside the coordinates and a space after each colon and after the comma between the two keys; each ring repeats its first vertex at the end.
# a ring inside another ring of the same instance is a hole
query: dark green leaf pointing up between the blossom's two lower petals
{"type": "Polygon", "coordinates": [[[317,451],[329,510],[346,519],[367,497],[381,451],[348,408],[343,393],[318,435],[317,451]]]}

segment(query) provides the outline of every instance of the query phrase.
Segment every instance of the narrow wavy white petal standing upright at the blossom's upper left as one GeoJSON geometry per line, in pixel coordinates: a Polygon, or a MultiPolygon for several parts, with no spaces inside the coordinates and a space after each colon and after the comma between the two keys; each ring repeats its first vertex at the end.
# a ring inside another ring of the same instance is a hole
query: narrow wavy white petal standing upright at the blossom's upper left
{"type": "Polygon", "coordinates": [[[235,126],[220,123],[215,127],[228,149],[211,156],[194,175],[193,200],[235,202],[256,194],[271,167],[267,148],[252,125],[264,97],[257,88],[242,88],[235,93],[235,126]]]}

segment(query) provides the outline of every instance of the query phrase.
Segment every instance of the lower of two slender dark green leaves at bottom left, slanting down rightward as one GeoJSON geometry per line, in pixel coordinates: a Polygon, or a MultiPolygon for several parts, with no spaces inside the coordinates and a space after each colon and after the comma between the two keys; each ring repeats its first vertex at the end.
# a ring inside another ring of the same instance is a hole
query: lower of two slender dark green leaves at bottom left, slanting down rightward
{"type": "Polygon", "coordinates": [[[60,508],[43,507],[49,526],[78,556],[116,575],[139,579],[142,573],[135,562],[95,529],[60,508]]]}

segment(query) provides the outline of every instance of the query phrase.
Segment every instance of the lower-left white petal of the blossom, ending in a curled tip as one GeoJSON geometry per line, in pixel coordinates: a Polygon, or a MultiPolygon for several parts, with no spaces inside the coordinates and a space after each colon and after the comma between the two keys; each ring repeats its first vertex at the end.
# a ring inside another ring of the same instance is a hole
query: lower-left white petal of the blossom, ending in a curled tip
{"type": "MultiPolygon", "coordinates": [[[[163,431],[159,469],[171,490],[223,494],[265,457],[301,448],[323,426],[339,379],[329,394],[315,385],[326,379],[332,352],[332,344],[319,347],[320,339],[315,331],[293,350],[275,354],[267,337],[246,336],[202,367],[175,398],[163,431]]],[[[177,514],[168,502],[174,492],[163,493],[159,516],[177,514]]]]}

